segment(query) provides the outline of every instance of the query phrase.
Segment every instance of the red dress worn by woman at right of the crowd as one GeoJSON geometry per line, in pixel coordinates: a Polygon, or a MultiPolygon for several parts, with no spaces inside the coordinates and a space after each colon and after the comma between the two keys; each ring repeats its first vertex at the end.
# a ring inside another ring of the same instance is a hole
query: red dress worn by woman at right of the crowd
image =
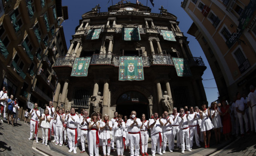
{"type": "MultiPolygon", "coordinates": [[[[226,105],[226,109],[224,107],[220,108],[220,111],[224,114],[226,111],[229,110],[229,105],[226,105]]],[[[226,113],[222,116],[222,125],[223,125],[223,134],[230,133],[232,130],[231,126],[231,117],[229,113],[226,113]]]]}

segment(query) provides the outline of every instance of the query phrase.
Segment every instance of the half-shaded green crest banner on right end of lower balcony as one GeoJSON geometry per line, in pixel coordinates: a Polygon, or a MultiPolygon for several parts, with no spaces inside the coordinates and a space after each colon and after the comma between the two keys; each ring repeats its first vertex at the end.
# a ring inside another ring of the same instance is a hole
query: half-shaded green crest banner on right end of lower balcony
{"type": "Polygon", "coordinates": [[[187,60],[183,58],[172,58],[178,76],[192,76],[187,60]]]}

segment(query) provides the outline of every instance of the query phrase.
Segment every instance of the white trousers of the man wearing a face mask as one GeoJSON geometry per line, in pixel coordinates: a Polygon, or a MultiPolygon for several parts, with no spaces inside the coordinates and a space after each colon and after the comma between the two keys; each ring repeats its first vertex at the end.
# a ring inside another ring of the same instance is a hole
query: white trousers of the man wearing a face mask
{"type": "Polygon", "coordinates": [[[140,134],[129,134],[129,142],[130,142],[130,152],[131,156],[139,156],[140,154],[140,134]],[[135,146],[135,152],[134,152],[135,146]]]}

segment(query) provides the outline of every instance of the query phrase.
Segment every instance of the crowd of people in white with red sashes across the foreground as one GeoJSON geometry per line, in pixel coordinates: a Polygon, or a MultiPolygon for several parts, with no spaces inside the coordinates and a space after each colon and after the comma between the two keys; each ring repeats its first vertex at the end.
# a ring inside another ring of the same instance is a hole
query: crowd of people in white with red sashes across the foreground
{"type": "MultiPolygon", "coordinates": [[[[3,91],[0,92],[0,100],[7,99],[5,93],[5,88],[3,88],[3,91]]],[[[9,115],[11,118],[13,115],[13,112],[9,111],[9,106],[15,107],[17,104],[17,99],[13,100],[13,98],[11,95],[7,100],[8,120],[9,115]]],[[[176,136],[176,148],[181,148],[181,153],[184,153],[185,150],[191,151],[193,140],[195,140],[195,146],[204,145],[204,148],[209,148],[211,131],[214,131],[215,134],[215,144],[221,143],[222,136],[228,140],[231,138],[231,134],[239,135],[239,130],[242,137],[245,133],[250,133],[249,127],[251,132],[255,132],[255,105],[256,91],[254,86],[250,86],[248,97],[241,97],[237,92],[233,103],[228,104],[226,100],[223,100],[218,105],[216,102],[212,102],[208,108],[205,103],[202,103],[202,109],[199,109],[198,106],[184,106],[179,109],[174,107],[171,115],[167,111],[162,115],[154,113],[149,120],[146,119],[145,114],[138,118],[136,111],[132,111],[129,117],[122,116],[118,112],[114,112],[113,119],[110,119],[107,114],[102,117],[100,113],[92,113],[89,117],[88,112],[83,108],[80,110],[80,114],[75,112],[73,107],[66,112],[64,108],[56,107],[55,109],[52,106],[52,101],[46,106],[42,115],[37,109],[37,103],[29,113],[25,114],[31,115],[28,139],[32,139],[34,132],[36,142],[39,143],[37,132],[41,121],[42,144],[46,146],[53,139],[52,142],[55,145],[66,145],[69,147],[68,152],[76,154],[77,146],[80,144],[82,147],[80,153],[86,152],[87,141],[90,156],[98,156],[99,151],[104,156],[109,156],[110,152],[114,152],[115,144],[118,156],[122,156],[125,151],[129,151],[131,156],[139,156],[139,154],[148,156],[150,133],[151,153],[152,156],[155,156],[155,154],[163,155],[167,152],[167,141],[168,151],[173,152],[176,136]],[[243,122],[245,122],[245,126],[243,122]]]]}

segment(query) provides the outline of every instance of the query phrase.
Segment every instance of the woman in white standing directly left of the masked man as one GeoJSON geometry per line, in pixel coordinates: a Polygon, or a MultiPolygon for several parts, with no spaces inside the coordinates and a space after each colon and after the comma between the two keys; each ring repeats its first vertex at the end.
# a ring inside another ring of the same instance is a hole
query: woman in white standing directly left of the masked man
{"type": "Polygon", "coordinates": [[[122,156],[124,146],[125,146],[125,138],[126,138],[125,123],[122,120],[123,116],[121,114],[119,114],[117,118],[118,118],[118,121],[114,123],[114,127],[113,127],[114,137],[116,142],[117,155],[122,156]]]}

